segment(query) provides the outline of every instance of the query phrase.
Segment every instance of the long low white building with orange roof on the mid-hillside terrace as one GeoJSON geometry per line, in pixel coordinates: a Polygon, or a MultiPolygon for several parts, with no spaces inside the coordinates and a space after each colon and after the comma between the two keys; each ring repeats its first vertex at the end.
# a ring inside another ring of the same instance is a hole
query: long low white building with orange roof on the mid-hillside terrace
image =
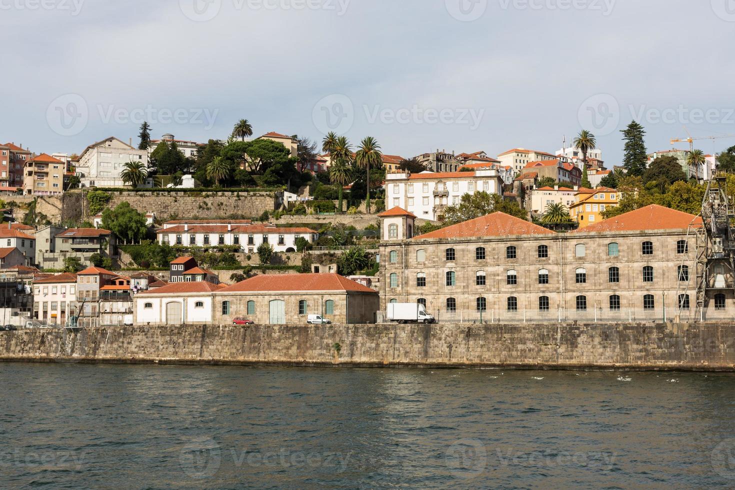
{"type": "Polygon", "coordinates": [[[243,253],[257,253],[262,243],[274,252],[295,252],[299,238],[314,243],[319,234],[309,228],[278,228],[248,221],[176,221],[165,223],[156,232],[158,242],[184,247],[237,246],[243,253]]]}

